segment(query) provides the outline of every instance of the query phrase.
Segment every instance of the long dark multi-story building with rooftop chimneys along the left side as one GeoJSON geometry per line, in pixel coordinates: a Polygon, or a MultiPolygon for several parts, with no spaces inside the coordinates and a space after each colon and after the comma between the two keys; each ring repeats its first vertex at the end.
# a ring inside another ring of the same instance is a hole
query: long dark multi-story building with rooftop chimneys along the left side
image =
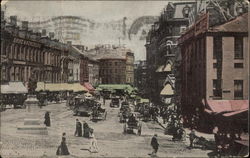
{"type": "MultiPolygon", "coordinates": [[[[3,15],[3,12],[1,13],[3,15]]],[[[28,22],[17,26],[1,18],[1,81],[27,83],[33,75],[37,81],[67,82],[67,47],[52,37],[34,33],[28,22]]]]}

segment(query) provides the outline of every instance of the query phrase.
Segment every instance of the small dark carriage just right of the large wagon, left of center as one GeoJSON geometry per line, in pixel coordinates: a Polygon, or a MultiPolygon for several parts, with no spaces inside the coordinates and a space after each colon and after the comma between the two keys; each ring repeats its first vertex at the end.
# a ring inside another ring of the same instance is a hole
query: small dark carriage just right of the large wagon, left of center
{"type": "Polygon", "coordinates": [[[106,118],[107,118],[106,109],[101,108],[101,104],[97,103],[92,109],[90,120],[98,121],[98,120],[106,120],[106,118]]]}

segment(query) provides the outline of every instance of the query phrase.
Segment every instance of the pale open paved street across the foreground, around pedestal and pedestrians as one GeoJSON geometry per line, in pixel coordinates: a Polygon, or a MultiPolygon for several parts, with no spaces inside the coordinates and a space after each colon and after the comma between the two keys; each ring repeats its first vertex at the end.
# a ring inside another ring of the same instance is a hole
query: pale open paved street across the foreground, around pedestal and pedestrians
{"type": "MultiPolygon", "coordinates": [[[[158,134],[159,157],[191,156],[206,157],[210,151],[187,149],[188,142],[172,142],[171,136],[164,135],[158,124],[153,122],[142,125],[142,135],[122,133],[123,124],[117,117],[118,108],[110,108],[109,101],[104,106],[107,111],[107,120],[92,122],[88,117],[73,116],[65,103],[50,104],[37,112],[37,117],[43,121],[45,111],[51,112],[52,126],[48,128],[49,135],[17,134],[16,127],[23,123],[27,114],[24,109],[9,109],[1,113],[1,155],[4,157],[48,156],[55,157],[61,141],[62,132],[67,133],[67,145],[71,153],[68,157],[149,157],[151,152],[150,140],[154,133],[158,134]],[[95,131],[99,153],[90,153],[89,140],[83,137],[74,137],[75,119],[85,120],[95,131]]],[[[135,131],[136,132],[136,131],[135,131]]]]}

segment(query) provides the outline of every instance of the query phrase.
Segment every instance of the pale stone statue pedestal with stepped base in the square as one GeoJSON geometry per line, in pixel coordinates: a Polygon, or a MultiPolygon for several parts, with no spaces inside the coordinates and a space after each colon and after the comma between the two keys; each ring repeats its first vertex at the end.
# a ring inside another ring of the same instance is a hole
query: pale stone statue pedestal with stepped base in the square
{"type": "Polygon", "coordinates": [[[37,113],[35,113],[39,110],[36,96],[28,95],[24,105],[27,109],[27,116],[24,119],[24,124],[17,127],[17,133],[48,135],[47,127],[37,118],[37,113]]]}

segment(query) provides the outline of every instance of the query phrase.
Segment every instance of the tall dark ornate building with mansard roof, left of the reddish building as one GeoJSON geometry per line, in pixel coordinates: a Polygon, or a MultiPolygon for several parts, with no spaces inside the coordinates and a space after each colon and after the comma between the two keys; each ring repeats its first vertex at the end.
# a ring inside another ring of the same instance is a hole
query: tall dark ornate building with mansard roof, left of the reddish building
{"type": "Polygon", "coordinates": [[[194,5],[195,2],[169,2],[148,34],[145,46],[150,88],[147,93],[153,102],[159,103],[164,82],[172,73],[177,39],[188,26],[189,12],[194,5]]]}

